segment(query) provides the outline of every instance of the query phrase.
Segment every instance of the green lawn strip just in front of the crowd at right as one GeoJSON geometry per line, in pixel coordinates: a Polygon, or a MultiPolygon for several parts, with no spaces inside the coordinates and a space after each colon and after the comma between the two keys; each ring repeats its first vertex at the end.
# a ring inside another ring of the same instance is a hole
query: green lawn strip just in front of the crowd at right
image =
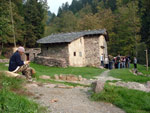
{"type": "Polygon", "coordinates": [[[150,81],[150,77],[146,76],[136,76],[132,74],[129,69],[113,69],[109,72],[109,76],[113,76],[115,78],[122,79],[122,81],[126,82],[140,82],[145,83],[150,81]]]}

